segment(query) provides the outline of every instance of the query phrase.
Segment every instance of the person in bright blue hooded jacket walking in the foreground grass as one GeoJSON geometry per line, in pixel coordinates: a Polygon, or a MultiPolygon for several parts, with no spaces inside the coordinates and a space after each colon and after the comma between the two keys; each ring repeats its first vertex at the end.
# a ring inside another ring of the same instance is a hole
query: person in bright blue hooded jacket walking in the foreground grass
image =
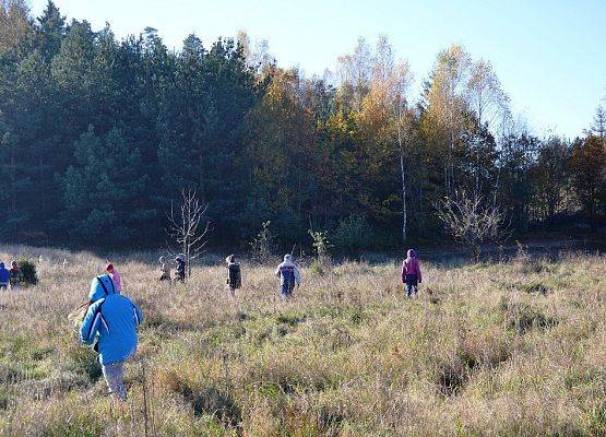
{"type": "Polygon", "coordinates": [[[108,274],[96,276],[88,293],[91,305],[80,327],[82,343],[93,345],[99,353],[103,376],[109,392],[126,401],[123,364],[136,352],[136,328],[143,321],[139,307],[118,294],[108,274]]]}

